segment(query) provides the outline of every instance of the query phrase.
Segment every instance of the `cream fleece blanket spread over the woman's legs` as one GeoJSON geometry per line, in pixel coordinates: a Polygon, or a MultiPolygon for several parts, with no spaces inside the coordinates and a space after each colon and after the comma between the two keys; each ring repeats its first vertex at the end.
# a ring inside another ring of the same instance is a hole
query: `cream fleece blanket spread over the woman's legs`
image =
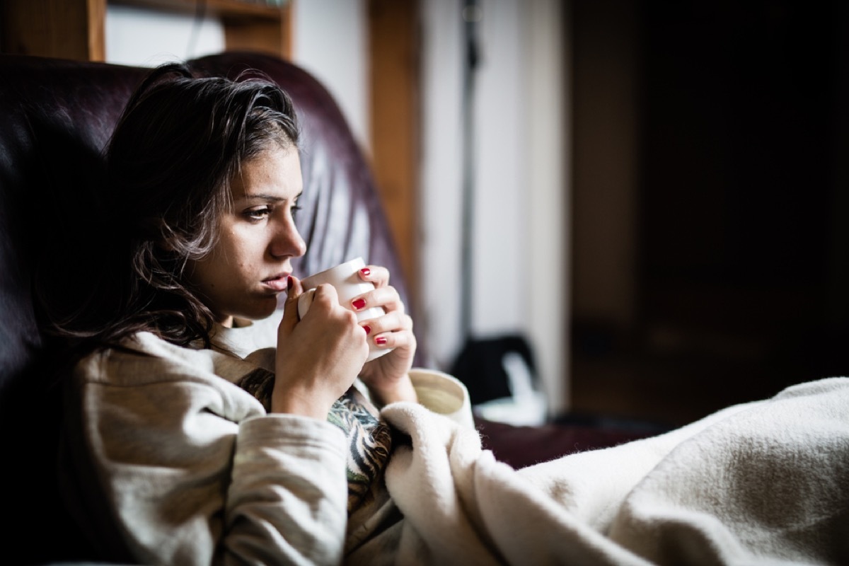
{"type": "Polygon", "coordinates": [[[399,564],[849,564],[849,378],[514,470],[408,403],[399,564]]]}

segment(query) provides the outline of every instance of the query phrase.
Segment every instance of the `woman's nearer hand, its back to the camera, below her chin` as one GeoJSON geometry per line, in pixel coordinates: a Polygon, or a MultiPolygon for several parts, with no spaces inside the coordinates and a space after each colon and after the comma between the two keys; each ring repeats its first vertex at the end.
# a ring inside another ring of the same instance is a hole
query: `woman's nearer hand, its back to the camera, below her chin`
{"type": "Polygon", "coordinates": [[[298,321],[301,281],[291,277],[277,334],[272,412],[324,420],[354,383],[368,357],[357,315],[339,304],[336,290],[319,285],[309,312],[298,321]]]}

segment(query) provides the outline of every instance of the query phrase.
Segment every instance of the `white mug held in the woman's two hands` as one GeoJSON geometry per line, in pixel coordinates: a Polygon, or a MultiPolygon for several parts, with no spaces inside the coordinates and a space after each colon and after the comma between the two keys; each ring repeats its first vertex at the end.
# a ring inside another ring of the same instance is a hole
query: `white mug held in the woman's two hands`
{"type": "MultiPolygon", "coordinates": [[[[353,311],[351,300],[359,294],[368,293],[368,291],[374,289],[374,283],[363,281],[357,274],[365,265],[363,258],[358,257],[355,260],[346,261],[343,264],[301,279],[301,284],[305,290],[298,297],[298,316],[303,318],[306,315],[306,312],[310,310],[310,305],[312,305],[316,288],[318,285],[325,283],[336,289],[336,294],[339,294],[339,304],[353,311]]],[[[357,313],[357,320],[364,321],[382,317],[386,311],[380,306],[372,306],[368,309],[363,309],[363,311],[355,312],[357,313]]],[[[374,345],[374,342],[371,342],[368,345],[368,357],[366,361],[372,361],[391,351],[391,348],[378,348],[374,345]]]]}

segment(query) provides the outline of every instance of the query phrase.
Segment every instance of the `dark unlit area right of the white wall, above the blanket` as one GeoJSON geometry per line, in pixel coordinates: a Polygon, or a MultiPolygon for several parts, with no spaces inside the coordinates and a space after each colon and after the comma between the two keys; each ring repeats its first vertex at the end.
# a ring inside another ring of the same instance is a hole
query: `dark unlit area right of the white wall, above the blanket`
{"type": "Polygon", "coordinates": [[[846,6],[571,4],[574,411],[679,424],[849,374],[846,6]]]}

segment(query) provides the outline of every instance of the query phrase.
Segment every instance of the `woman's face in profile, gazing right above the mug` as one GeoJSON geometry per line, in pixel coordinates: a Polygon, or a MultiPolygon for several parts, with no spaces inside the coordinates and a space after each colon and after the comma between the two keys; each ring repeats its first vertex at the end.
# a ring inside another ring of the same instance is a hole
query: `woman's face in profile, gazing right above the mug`
{"type": "Polygon", "coordinates": [[[204,259],[188,263],[188,281],[217,322],[257,320],[277,307],[292,272],[290,260],[306,251],[294,218],[302,186],[297,149],[274,146],[242,164],[241,177],[231,183],[233,210],[222,218],[218,243],[204,259]]]}

